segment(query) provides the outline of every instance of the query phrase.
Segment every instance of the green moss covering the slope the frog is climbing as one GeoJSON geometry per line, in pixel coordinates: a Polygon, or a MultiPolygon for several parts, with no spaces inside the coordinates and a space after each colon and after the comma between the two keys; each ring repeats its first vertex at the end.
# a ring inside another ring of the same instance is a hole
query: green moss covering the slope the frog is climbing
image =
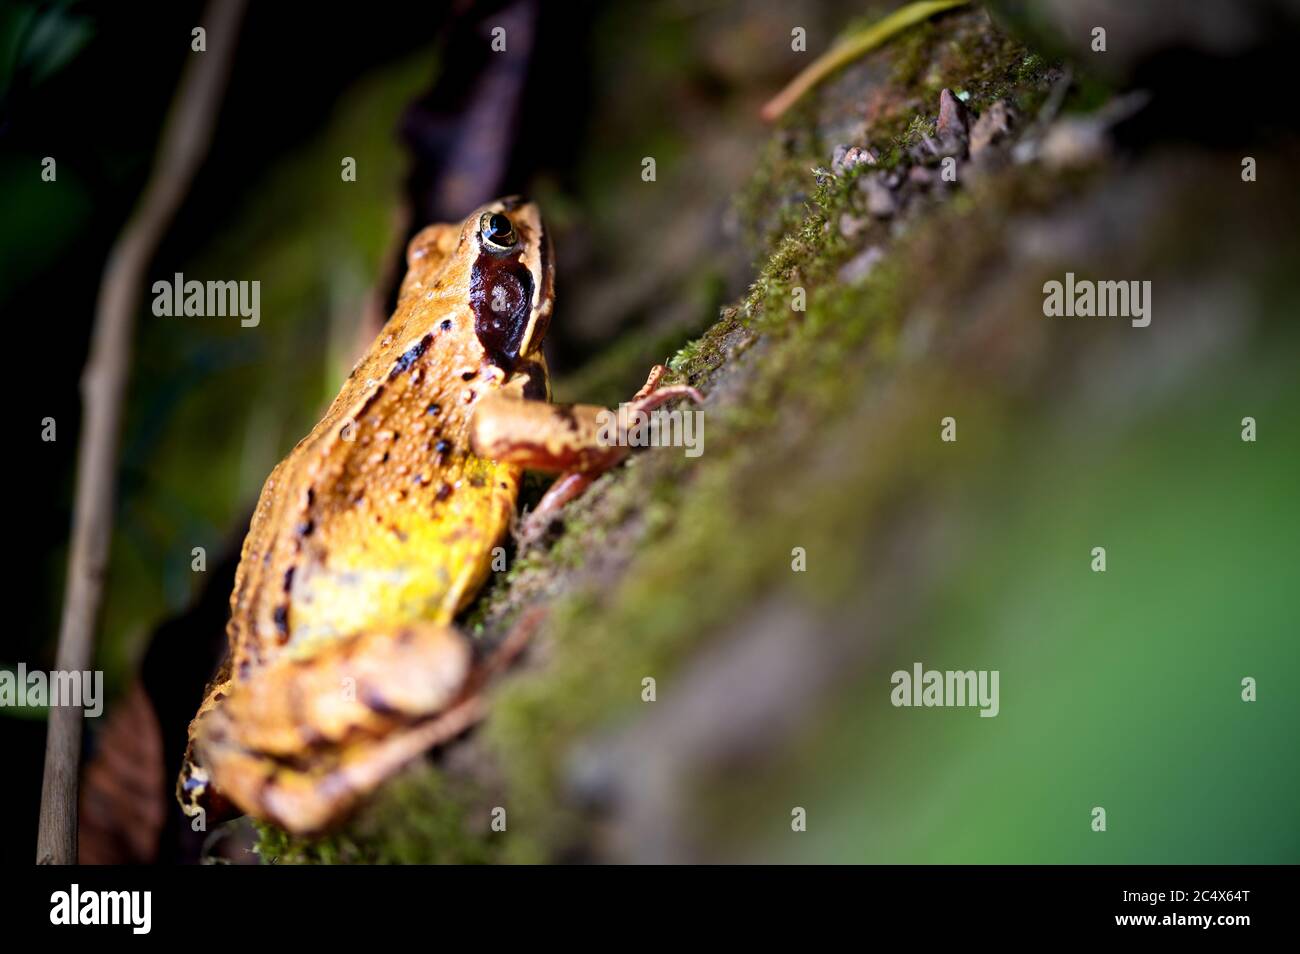
{"type": "MultiPolygon", "coordinates": [[[[900,161],[931,131],[936,83],[983,103],[1045,90],[1048,65],[988,30],[978,13],[942,17],[875,55],[896,57],[892,75],[901,87],[890,90],[884,118],[868,131],[872,143],[888,146],[883,165],[900,161]]],[[[519,555],[465,620],[472,632],[499,638],[523,607],[547,607],[536,664],[500,680],[491,717],[472,743],[499,782],[493,798],[510,812],[510,837],[481,831],[473,845],[464,819],[484,793],[442,788],[437,769],[426,767],[416,776],[429,786],[422,807],[398,807],[402,789],[386,786],[369,816],[380,821],[369,828],[354,823],[311,850],[264,832],[264,853],[303,860],[482,860],[490,851],[495,859],[534,862],[581,849],[588,820],[567,788],[573,746],[637,714],[644,677],[671,681],[707,633],[764,595],[797,586],[802,598],[833,602],[852,580],[831,569],[792,581],[790,548],[815,550],[824,567],[858,565],[842,528],[870,525],[932,463],[935,442],[918,445],[924,430],[918,422],[937,420],[953,402],[966,420],[997,413],[987,395],[939,373],[913,372],[920,377],[907,411],[875,425],[872,454],[850,446],[829,478],[818,467],[827,433],[861,400],[863,382],[897,373],[898,328],[928,285],[916,277],[944,273],[956,286],[989,266],[994,246],[954,250],[952,237],[993,231],[1008,207],[1043,205],[1067,187],[1013,172],[978,196],[958,194],[963,201],[927,214],[902,240],[878,224],[849,240],[838,221],[862,214],[857,179],[871,170],[835,177],[819,168],[829,155],[818,133],[822,104],[814,95],[785,117],[737,200],[759,260],[753,285],[668,363],[673,380],[706,390],[725,385],[706,406],[705,455],[646,452],[602,477],[567,509],[554,546],[519,555]],[[838,281],[844,263],[870,243],[888,250],[870,277],[838,281]],[[805,311],[792,307],[796,286],[806,292],[805,311]],[[879,463],[885,459],[913,464],[906,473],[885,473],[879,463]],[[428,818],[403,821],[403,811],[428,818]]],[[[627,376],[644,370],[646,352],[664,343],[629,335],[573,378],[571,394],[625,396],[627,376]]]]}

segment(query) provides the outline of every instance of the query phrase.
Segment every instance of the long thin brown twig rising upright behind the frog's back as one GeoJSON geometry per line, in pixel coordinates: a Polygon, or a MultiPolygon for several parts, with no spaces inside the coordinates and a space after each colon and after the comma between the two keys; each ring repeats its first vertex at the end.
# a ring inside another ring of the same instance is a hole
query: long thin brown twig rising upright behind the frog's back
{"type": "MultiPolygon", "coordinates": [[[[208,152],[230,73],[244,0],[211,0],[204,12],[207,52],[192,53],[162,129],[153,173],[131,218],[109,251],[95,304],[90,356],[82,374],[82,430],[64,615],[55,665],[90,667],[113,529],[117,442],[131,363],[131,328],[146,273],[164,233],[208,152]]],[[[38,864],[77,860],[77,773],[82,710],[52,706],[40,792],[38,864]]]]}

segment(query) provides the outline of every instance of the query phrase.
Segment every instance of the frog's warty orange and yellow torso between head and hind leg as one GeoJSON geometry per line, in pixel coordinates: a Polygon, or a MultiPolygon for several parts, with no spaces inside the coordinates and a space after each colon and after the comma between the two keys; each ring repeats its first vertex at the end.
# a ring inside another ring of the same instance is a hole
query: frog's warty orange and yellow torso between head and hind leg
{"type": "Polygon", "coordinates": [[[473,316],[408,276],[329,412],[266,480],[231,594],[234,665],[402,620],[448,621],[486,577],[520,471],[474,456],[469,419],[502,374],[473,316]]]}

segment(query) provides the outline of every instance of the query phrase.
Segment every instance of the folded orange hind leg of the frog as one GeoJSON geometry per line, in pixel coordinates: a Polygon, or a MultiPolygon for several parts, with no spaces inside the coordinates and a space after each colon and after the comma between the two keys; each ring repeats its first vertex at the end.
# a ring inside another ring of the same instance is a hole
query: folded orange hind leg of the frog
{"type": "Polygon", "coordinates": [[[276,659],[195,720],[191,779],[291,832],[320,831],[480,717],[471,656],[452,628],[417,623],[276,659]]]}

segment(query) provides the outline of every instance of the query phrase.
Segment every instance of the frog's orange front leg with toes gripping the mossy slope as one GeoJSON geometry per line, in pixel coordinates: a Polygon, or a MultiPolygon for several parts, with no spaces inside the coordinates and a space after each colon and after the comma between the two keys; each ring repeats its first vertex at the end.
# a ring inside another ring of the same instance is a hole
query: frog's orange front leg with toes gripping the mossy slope
{"type": "Polygon", "coordinates": [[[534,537],[564,504],[628,456],[628,442],[623,438],[638,412],[649,413],[675,398],[703,400],[689,385],[659,387],[666,370],[662,364],[651,368],[646,383],[620,408],[616,435],[608,426],[612,412],[594,404],[551,404],[507,393],[480,403],[471,435],[474,454],[560,474],[529,515],[521,533],[524,539],[534,537]]]}

